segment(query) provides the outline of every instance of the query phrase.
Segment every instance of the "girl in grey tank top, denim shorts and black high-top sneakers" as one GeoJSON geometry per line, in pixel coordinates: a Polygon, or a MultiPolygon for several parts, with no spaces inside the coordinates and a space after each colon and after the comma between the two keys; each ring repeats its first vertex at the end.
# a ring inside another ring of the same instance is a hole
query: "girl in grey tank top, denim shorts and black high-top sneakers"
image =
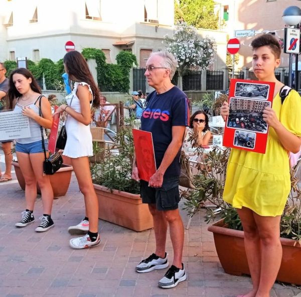
{"type": "MultiPolygon", "coordinates": [[[[53,190],[49,175],[44,174],[45,160],[42,145],[41,126],[50,129],[52,126],[51,106],[48,99],[41,95],[41,89],[33,74],[25,69],[18,68],[11,73],[10,88],[8,91],[10,109],[29,118],[31,137],[16,140],[16,154],[18,163],[25,179],[26,210],[16,227],[26,227],[35,222],[34,206],[37,198],[37,182],[41,189],[43,202],[43,216],[36,228],[37,232],[48,231],[54,227],[51,218],[53,204],[53,190]],[[40,104],[41,115],[40,116],[40,104]]],[[[43,129],[45,149],[48,149],[48,140],[43,129]]]]}

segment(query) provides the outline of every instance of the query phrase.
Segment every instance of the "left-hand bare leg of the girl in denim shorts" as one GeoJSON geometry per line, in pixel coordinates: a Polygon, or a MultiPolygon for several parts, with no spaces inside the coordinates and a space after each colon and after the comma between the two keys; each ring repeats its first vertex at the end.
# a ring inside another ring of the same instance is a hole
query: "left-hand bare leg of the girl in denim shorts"
{"type": "Polygon", "coordinates": [[[33,211],[37,197],[37,180],[29,154],[17,152],[18,163],[25,180],[26,209],[33,211]]]}

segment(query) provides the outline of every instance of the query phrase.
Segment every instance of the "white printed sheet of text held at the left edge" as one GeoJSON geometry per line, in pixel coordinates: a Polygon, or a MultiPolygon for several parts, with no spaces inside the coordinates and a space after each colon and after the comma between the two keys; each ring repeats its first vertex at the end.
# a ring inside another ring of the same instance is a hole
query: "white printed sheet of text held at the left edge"
{"type": "Polygon", "coordinates": [[[31,137],[29,118],[22,112],[0,113],[0,141],[31,137]]]}

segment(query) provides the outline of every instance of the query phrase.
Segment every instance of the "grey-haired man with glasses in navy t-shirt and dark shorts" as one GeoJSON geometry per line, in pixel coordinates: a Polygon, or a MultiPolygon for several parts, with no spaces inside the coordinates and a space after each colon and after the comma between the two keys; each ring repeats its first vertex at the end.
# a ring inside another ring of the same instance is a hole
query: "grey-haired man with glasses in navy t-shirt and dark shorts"
{"type": "MultiPolygon", "coordinates": [[[[144,75],[155,91],[147,96],[141,116],[141,130],[152,132],[157,166],[149,182],[140,180],[142,202],[148,204],[154,219],[156,251],[142,260],[136,271],[149,272],[169,266],[165,249],[169,225],[174,260],[158,283],[163,288],[175,287],[187,278],[182,263],[184,226],[178,204],[180,152],[185,127],[189,126],[189,108],[185,93],[171,82],[176,69],[177,61],[169,52],[155,52],[149,57],[144,75]]],[[[139,180],[135,161],[132,178],[139,180]]]]}

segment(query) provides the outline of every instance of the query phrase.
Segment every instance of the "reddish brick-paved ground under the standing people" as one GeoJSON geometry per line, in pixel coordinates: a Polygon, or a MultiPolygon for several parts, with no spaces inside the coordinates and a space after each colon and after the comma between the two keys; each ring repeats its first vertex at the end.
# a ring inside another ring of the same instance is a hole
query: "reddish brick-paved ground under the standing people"
{"type": "MultiPolygon", "coordinates": [[[[3,164],[2,164],[3,167],[3,164]]],[[[154,251],[152,230],[136,233],[99,221],[101,245],[73,250],[68,241],[70,225],[83,217],[84,205],[75,177],[66,196],[55,200],[55,228],[36,233],[42,214],[40,197],[36,203],[34,224],[17,229],[14,225],[24,210],[24,191],[16,180],[0,184],[0,296],[206,296],[232,297],[251,287],[248,276],[224,273],[215,252],[212,234],[201,216],[195,216],[185,230],[184,262],[188,281],[176,288],[157,286],[164,270],[138,274],[134,266],[154,251]]],[[[187,216],[182,215],[185,223],[187,216]]],[[[167,251],[172,259],[171,242],[167,251]]],[[[301,291],[275,284],[271,296],[290,297],[301,291]]]]}

